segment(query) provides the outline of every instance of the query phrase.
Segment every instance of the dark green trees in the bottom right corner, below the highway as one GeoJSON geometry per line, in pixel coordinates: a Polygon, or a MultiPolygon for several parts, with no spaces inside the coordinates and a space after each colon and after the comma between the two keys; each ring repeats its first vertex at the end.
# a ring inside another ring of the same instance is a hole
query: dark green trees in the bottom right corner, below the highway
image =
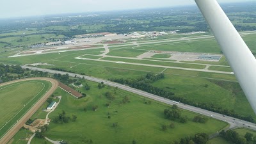
{"type": "Polygon", "coordinates": [[[239,136],[239,134],[236,131],[233,130],[227,130],[224,131],[222,130],[220,132],[220,135],[225,138],[225,140],[230,141],[231,143],[235,143],[235,144],[246,144],[247,141],[253,141],[253,139],[255,139],[255,141],[253,141],[254,143],[256,142],[256,138],[253,138],[253,134],[250,133],[246,133],[245,136],[239,136]]]}

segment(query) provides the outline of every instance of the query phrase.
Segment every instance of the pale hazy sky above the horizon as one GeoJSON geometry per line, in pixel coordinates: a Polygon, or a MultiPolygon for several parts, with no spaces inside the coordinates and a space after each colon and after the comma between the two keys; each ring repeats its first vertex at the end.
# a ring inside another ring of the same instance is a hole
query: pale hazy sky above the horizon
{"type": "MultiPolygon", "coordinates": [[[[217,0],[235,3],[255,0],[217,0]]],[[[59,13],[101,12],[193,5],[194,0],[0,0],[0,19],[59,13]]]]}

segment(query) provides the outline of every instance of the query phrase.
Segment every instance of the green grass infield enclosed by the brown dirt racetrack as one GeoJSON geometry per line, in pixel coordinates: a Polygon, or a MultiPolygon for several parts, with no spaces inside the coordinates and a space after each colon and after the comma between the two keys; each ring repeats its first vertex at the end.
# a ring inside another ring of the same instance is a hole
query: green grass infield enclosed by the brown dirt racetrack
{"type": "Polygon", "coordinates": [[[3,136],[49,88],[51,88],[51,83],[39,80],[1,86],[0,135],[3,136]]]}

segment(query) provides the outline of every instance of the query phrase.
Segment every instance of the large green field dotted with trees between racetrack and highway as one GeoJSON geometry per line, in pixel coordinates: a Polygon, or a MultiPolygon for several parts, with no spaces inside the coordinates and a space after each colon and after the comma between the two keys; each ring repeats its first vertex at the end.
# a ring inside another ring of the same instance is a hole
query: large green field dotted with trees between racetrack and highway
{"type": "MultiPolygon", "coordinates": [[[[87,82],[92,86],[90,91],[86,91],[88,95],[84,99],[74,99],[68,93],[56,91],[56,95],[62,95],[61,103],[50,114],[57,116],[62,110],[67,115],[77,115],[76,122],[68,124],[54,124],[51,122],[47,137],[52,140],[65,140],[69,143],[85,143],[84,141],[92,140],[93,143],[131,143],[132,140],[138,143],[170,143],[170,141],[179,140],[184,136],[193,136],[197,132],[207,132],[211,134],[220,131],[227,124],[209,118],[206,124],[196,124],[192,122],[194,113],[182,111],[182,115],[187,115],[189,122],[187,124],[175,123],[174,129],[167,131],[161,130],[161,125],[170,124],[170,120],[166,120],[163,115],[164,108],[170,108],[165,104],[161,104],[152,100],[152,104],[145,104],[145,100],[138,95],[116,91],[116,99],[111,102],[110,108],[106,107],[109,102],[104,96],[107,91],[113,88],[103,88],[99,90],[97,83],[87,82]],[[130,102],[122,104],[122,99],[127,95],[130,102]],[[99,106],[97,111],[92,111],[92,106],[99,106]],[[83,108],[87,108],[87,112],[83,108]],[[115,111],[118,111],[116,113],[115,111]],[[108,118],[108,113],[111,118],[108,118]],[[118,122],[118,127],[111,125],[118,122]],[[81,129],[83,127],[83,129],[81,129]]],[[[79,89],[83,91],[83,88],[79,89]]]]}

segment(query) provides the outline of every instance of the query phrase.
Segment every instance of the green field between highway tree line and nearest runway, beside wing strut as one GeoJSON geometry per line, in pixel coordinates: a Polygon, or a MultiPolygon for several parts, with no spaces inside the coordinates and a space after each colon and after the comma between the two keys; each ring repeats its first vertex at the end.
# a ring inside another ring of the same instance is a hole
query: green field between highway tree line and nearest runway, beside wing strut
{"type": "Polygon", "coordinates": [[[234,109],[235,113],[239,115],[256,117],[237,82],[166,75],[164,79],[153,83],[153,85],[159,88],[169,86],[174,89],[171,91],[175,93],[175,96],[193,102],[214,104],[223,109],[234,109]],[[205,88],[205,84],[208,84],[207,88],[205,88]]]}

